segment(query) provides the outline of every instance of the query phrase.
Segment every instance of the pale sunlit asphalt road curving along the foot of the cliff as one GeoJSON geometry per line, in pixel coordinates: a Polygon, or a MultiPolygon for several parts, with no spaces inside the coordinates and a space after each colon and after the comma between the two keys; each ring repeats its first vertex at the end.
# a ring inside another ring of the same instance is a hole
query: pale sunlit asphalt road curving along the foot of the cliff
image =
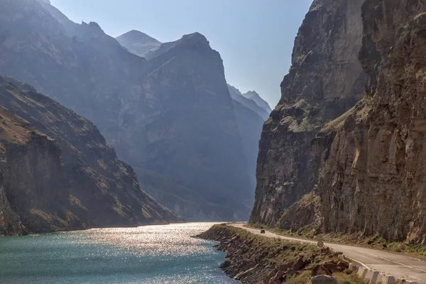
{"type": "MultiPolygon", "coordinates": [[[[308,241],[304,239],[296,239],[288,236],[280,236],[266,231],[261,234],[259,229],[250,229],[244,227],[245,224],[231,224],[239,229],[245,229],[253,234],[268,236],[270,238],[286,239],[288,241],[298,241],[307,244],[317,244],[317,241],[308,241]]],[[[419,283],[426,283],[426,261],[410,256],[403,256],[398,253],[388,253],[387,251],[378,251],[376,249],[360,248],[358,246],[344,246],[342,244],[324,243],[334,251],[342,251],[344,255],[362,265],[376,269],[383,273],[391,273],[395,278],[410,277],[419,280],[419,283]]]]}

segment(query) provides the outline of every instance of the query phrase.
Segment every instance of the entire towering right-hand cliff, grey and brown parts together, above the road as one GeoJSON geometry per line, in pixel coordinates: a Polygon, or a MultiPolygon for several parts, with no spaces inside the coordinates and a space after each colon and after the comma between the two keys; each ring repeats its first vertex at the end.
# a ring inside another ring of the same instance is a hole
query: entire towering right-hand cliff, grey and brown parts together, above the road
{"type": "Polygon", "coordinates": [[[425,9],[313,2],[263,129],[251,222],[424,243],[425,9]]]}

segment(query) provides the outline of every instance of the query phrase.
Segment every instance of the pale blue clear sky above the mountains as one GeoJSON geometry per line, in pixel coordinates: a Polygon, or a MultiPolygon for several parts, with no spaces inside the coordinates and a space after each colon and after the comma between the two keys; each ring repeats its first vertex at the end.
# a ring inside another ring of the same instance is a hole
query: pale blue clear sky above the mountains
{"type": "Polygon", "coordinates": [[[72,21],[114,37],[130,30],[161,42],[200,32],[224,60],[226,80],[275,107],[297,29],[312,0],[50,0],[72,21]]]}

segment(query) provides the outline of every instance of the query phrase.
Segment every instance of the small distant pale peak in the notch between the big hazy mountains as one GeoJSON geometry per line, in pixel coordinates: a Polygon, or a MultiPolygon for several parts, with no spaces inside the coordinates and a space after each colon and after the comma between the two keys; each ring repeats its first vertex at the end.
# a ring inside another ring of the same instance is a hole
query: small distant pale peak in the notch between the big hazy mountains
{"type": "Polygon", "coordinates": [[[116,38],[124,48],[127,48],[131,53],[134,53],[139,56],[144,56],[149,50],[153,50],[154,48],[158,48],[161,43],[155,38],[151,38],[151,36],[146,33],[142,33],[141,31],[129,31],[128,33],[124,33],[116,38]]]}

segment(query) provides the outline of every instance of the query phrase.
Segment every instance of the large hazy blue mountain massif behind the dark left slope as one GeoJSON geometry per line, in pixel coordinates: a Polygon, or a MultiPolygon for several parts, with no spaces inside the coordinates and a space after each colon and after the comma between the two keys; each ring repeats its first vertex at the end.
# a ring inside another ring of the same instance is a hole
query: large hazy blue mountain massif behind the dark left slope
{"type": "Polygon", "coordinates": [[[185,219],[249,217],[243,141],[222,59],[203,35],[146,60],[48,4],[0,4],[0,73],[93,121],[143,189],[185,219]]]}

